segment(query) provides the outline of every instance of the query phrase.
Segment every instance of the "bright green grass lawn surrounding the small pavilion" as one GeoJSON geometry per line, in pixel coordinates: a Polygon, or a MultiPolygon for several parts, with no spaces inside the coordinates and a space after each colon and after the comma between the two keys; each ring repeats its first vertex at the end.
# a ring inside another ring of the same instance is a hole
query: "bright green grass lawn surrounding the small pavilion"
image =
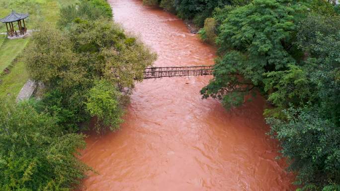
{"type": "MultiPolygon", "coordinates": [[[[49,22],[56,25],[59,19],[59,9],[78,2],[78,0],[0,0],[0,18],[3,18],[13,9],[16,12],[29,13],[25,19],[27,29],[35,29],[39,24],[49,22]]],[[[13,23],[14,25],[14,23],[13,23]]],[[[14,28],[17,26],[14,26],[14,28]]],[[[0,23],[0,32],[5,32],[6,26],[0,23]]],[[[0,36],[0,72],[12,64],[22,50],[29,43],[30,38],[7,40],[0,36]]],[[[15,98],[29,75],[23,62],[14,64],[10,72],[0,77],[0,99],[15,98]]]]}

